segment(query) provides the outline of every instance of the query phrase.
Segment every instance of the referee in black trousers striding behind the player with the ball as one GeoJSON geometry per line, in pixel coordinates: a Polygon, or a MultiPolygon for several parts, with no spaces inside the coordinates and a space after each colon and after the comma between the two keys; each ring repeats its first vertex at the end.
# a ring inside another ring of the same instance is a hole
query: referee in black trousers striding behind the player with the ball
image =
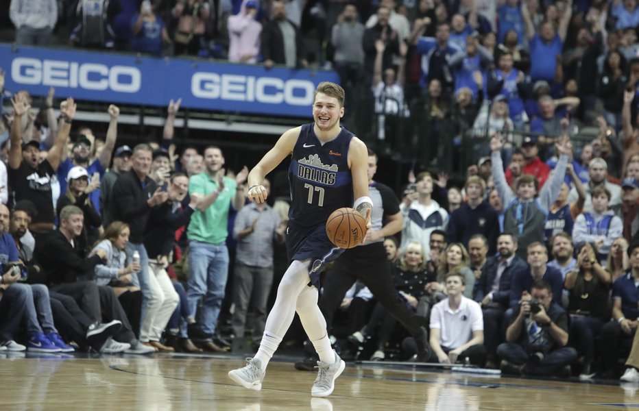
{"type": "MultiPolygon", "coordinates": [[[[398,299],[391,266],[384,249],[384,237],[392,236],[402,230],[404,225],[402,212],[393,190],[373,180],[376,171],[377,155],[369,150],[368,189],[373,201],[372,227],[366,233],[364,245],[344,251],[333,264],[333,270],[324,279],[324,292],[319,301],[319,310],[324,314],[327,328],[330,329],[333,315],[339,308],[343,296],[355,280],[360,279],[375,299],[413,335],[418,346],[418,360],[426,362],[431,349],[428,344],[428,334],[423,325],[428,319],[418,316],[408,308],[405,301],[398,299]],[[385,225],[383,225],[384,220],[385,225]]],[[[359,343],[363,343],[363,338],[359,343]]],[[[310,365],[310,363],[311,361],[306,359],[303,364],[296,363],[296,368],[307,369],[304,365],[310,365]]]]}

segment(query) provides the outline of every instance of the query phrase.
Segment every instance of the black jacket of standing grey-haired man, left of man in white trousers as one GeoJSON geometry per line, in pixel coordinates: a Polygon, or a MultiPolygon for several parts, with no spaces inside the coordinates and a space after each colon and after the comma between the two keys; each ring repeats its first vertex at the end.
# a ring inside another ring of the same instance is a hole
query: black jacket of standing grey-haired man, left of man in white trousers
{"type": "Polygon", "coordinates": [[[129,225],[129,240],[134,244],[141,244],[143,241],[144,229],[151,212],[147,200],[153,196],[156,188],[158,185],[148,176],[145,176],[143,188],[133,169],[122,173],[113,185],[110,199],[113,221],[123,221],[129,225]]]}

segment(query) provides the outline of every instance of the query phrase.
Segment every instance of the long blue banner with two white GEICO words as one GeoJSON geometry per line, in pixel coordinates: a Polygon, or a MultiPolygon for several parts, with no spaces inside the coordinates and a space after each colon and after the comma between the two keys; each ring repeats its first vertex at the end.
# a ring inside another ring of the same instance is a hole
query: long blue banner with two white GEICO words
{"type": "Polygon", "coordinates": [[[132,105],[167,105],[282,116],[311,116],[320,82],[338,82],[332,71],[265,69],[263,66],[136,57],[117,53],[0,45],[7,90],[132,105]]]}

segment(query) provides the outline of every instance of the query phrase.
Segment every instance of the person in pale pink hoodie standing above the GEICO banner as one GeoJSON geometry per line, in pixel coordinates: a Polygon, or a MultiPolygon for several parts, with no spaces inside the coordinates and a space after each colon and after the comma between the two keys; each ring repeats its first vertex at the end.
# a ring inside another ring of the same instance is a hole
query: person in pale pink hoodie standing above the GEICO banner
{"type": "Polygon", "coordinates": [[[245,64],[257,62],[262,33],[262,25],[257,21],[258,4],[255,0],[243,1],[239,13],[228,17],[228,61],[245,64]]]}

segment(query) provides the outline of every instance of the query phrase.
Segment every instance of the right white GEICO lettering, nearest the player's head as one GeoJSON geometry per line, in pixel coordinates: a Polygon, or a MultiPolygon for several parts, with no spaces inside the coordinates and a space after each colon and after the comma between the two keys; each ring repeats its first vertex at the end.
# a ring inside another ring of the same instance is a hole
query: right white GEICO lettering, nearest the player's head
{"type": "Polygon", "coordinates": [[[285,81],[277,77],[195,73],[191,77],[191,92],[200,99],[311,105],[315,84],[300,79],[285,81]]]}

